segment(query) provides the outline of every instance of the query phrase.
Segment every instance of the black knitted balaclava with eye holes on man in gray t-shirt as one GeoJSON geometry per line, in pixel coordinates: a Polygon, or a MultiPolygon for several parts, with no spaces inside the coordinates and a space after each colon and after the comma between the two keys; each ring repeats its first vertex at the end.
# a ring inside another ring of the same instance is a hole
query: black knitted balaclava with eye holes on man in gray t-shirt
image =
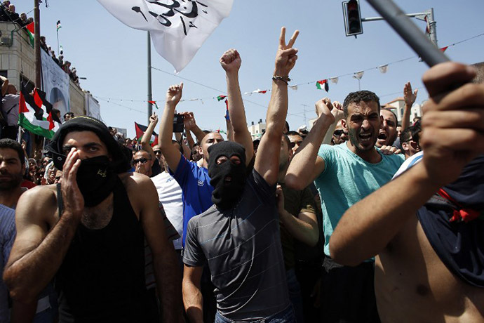
{"type": "Polygon", "coordinates": [[[229,209],[235,205],[246,184],[246,150],[242,145],[223,141],[208,147],[208,176],[213,186],[212,202],[219,209],[229,209]],[[217,164],[219,157],[227,157],[227,162],[217,164]],[[237,156],[241,163],[236,165],[230,157],[237,156]],[[229,177],[231,180],[227,181],[229,177]]]}

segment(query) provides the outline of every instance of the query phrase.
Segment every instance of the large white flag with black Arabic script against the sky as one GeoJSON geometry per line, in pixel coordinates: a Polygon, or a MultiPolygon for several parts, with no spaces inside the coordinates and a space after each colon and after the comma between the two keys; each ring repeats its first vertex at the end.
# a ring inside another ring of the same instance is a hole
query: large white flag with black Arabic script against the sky
{"type": "Polygon", "coordinates": [[[183,70],[229,16],[234,0],[98,0],[129,27],[147,30],[156,51],[183,70]]]}

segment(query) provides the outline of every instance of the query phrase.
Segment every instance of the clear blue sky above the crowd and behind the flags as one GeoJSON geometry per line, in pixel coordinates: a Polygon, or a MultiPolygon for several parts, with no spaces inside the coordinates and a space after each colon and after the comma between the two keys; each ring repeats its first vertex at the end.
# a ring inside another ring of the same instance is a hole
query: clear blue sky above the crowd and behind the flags
{"type": "MultiPolygon", "coordinates": [[[[14,0],[13,4],[20,13],[31,11],[32,2],[14,0]]],[[[123,25],[97,1],[43,2],[41,34],[46,36],[49,45],[57,48],[55,23],[61,21],[59,38],[65,59],[72,62],[80,77],[87,78],[81,80],[81,86],[98,98],[102,119],[108,125],[127,128],[128,136],[133,137],[134,121],[147,124],[146,32],[123,25]]],[[[397,3],[407,13],[433,7],[440,47],[484,32],[481,19],[484,1],[408,0],[397,3]]],[[[361,13],[363,17],[377,15],[365,1],[361,1],[361,13]]],[[[424,22],[415,22],[425,29],[424,22]]],[[[318,79],[372,68],[363,75],[361,88],[377,93],[382,103],[401,96],[406,81],[411,81],[414,87],[422,87],[426,65],[419,62],[386,22],[364,22],[364,34],[357,39],[345,37],[341,1],[235,0],[229,18],[222,21],[177,76],[172,75],[174,68],[152,48],[152,66],[164,71],[152,71],[154,100],[164,100],[170,84],[184,81],[184,99],[205,99],[182,102],[178,112],[194,112],[201,128],[224,129],[224,103],[210,99],[226,91],[224,71],[218,62],[220,56],[229,48],[241,53],[242,92],[269,89],[281,26],[288,29],[288,34],[300,30],[295,44],[299,48],[299,59],[290,77],[291,84],[304,85],[298,86],[297,91],[289,91],[288,121],[292,129],[304,124],[304,109],[307,109],[307,119],[314,117],[316,100],[328,96],[342,101],[347,93],[358,90],[358,81],[351,75],[340,77],[338,84],[330,83],[329,93],[316,89],[314,81],[318,79]],[[396,62],[405,58],[412,59],[396,62]],[[386,74],[373,68],[389,62],[396,63],[389,65],[386,74]]],[[[452,46],[445,53],[459,62],[483,61],[484,37],[452,46]]],[[[249,124],[265,119],[269,98],[269,92],[243,95],[249,124]]],[[[425,99],[426,91],[422,88],[417,103],[425,99]]],[[[163,109],[163,103],[159,107],[163,109]]]]}

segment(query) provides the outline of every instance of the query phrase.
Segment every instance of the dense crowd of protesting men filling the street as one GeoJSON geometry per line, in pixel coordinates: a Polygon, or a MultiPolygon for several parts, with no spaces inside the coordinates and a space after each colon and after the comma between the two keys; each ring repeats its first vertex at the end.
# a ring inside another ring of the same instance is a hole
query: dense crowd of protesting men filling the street
{"type": "Polygon", "coordinates": [[[297,36],[262,138],[231,49],[227,139],[174,133],[183,84],[139,141],[70,114],[46,157],[1,139],[0,322],[483,322],[484,63],[427,71],[422,119],[408,83],[401,124],[365,90],[291,131],[297,36]]]}

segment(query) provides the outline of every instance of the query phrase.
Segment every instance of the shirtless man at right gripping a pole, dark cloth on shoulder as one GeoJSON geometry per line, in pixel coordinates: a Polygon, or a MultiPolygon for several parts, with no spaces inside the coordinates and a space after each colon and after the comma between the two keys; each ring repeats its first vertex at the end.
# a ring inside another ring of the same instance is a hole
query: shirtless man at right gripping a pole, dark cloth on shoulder
{"type": "Polygon", "coordinates": [[[424,74],[422,162],[354,204],[331,237],[339,263],[377,255],[382,322],[484,321],[484,223],[467,218],[483,214],[484,85],[454,89],[475,75],[454,62],[424,74]]]}

